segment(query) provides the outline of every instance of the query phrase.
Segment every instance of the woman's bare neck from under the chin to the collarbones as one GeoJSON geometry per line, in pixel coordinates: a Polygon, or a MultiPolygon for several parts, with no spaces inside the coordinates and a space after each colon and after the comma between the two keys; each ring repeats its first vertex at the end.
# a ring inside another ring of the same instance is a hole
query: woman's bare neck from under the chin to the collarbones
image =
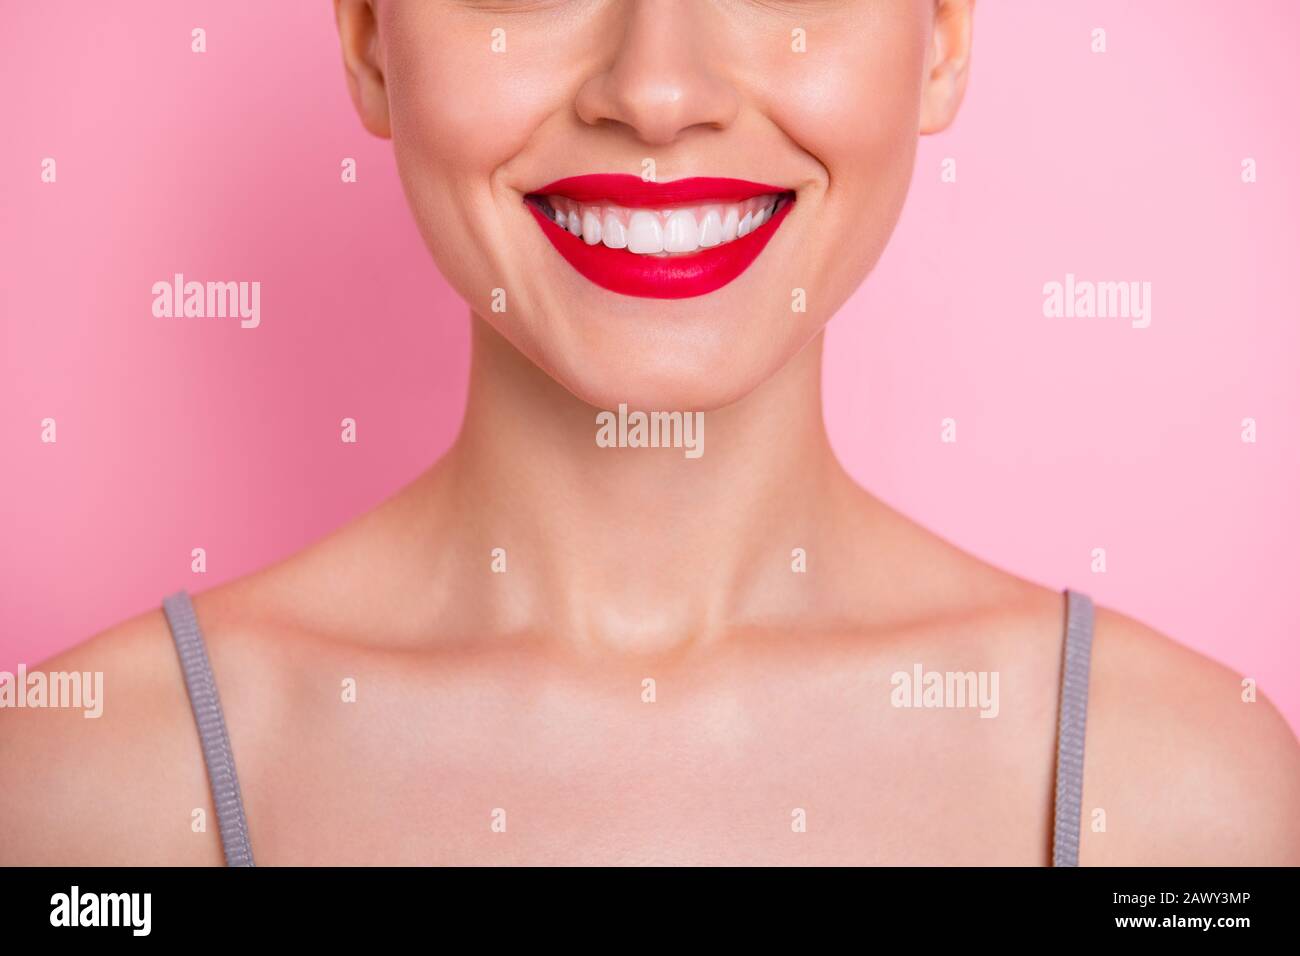
{"type": "Polygon", "coordinates": [[[818,336],[759,389],[705,412],[697,458],[602,447],[602,410],[474,316],[465,419],[432,505],[472,555],[459,574],[480,627],[664,650],[779,618],[783,596],[806,611],[792,551],[835,533],[827,511],[849,483],[822,421],[820,359],[818,336]]]}

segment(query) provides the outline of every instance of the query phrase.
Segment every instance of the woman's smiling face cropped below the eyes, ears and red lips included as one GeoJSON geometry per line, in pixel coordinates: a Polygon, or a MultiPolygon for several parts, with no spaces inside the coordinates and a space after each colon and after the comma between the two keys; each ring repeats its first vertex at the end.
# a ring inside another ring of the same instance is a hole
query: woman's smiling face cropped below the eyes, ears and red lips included
{"type": "Polygon", "coordinates": [[[862,281],[970,36],[968,4],[936,0],[338,14],[358,108],[452,286],[578,398],[670,411],[748,394],[862,281]]]}

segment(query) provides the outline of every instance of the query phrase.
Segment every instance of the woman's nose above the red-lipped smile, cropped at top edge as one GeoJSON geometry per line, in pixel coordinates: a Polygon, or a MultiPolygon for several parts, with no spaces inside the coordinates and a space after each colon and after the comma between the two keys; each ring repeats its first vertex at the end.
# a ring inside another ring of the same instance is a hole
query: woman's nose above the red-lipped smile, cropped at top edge
{"type": "MultiPolygon", "coordinates": [[[[578,90],[576,108],[592,126],[618,124],[650,146],[685,130],[725,129],[740,109],[734,86],[716,69],[706,0],[618,0],[623,35],[606,69],[578,90]]],[[[719,44],[719,47],[723,44],[719,44]]]]}

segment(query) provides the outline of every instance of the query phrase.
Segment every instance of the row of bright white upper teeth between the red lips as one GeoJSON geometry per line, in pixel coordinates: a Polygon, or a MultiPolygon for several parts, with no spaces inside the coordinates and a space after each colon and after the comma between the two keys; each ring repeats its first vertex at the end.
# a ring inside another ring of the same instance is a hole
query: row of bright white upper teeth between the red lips
{"type": "Polygon", "coordinates": [[[788,202],[768,194],[736,203],[706,203],[670,208],[627,208],[607,203],[578,203],[568,196],[546,196],[546,209],[560,229],[581,237],[588,246],[625,248],[638,255],[673,255],[714,248],[749,235],[788,202]]]}

